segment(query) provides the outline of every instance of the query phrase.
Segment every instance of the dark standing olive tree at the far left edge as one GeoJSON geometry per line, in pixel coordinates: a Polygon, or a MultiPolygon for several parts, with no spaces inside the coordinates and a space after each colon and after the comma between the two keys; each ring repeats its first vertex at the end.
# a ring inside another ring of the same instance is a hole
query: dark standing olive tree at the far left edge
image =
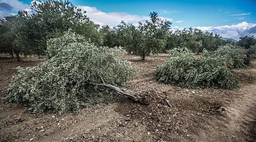
{"type": "Polygon", "coordinates": [[[31,33],[27,16],[19,11],[17,15],[6,16],[0,20],[0,52],[12,57],[15,54],[18,61],[20,61],[20,54],[26,56],[31,53],[31,48],[29,48],[31,42],[27,42],[31,33]]]}

